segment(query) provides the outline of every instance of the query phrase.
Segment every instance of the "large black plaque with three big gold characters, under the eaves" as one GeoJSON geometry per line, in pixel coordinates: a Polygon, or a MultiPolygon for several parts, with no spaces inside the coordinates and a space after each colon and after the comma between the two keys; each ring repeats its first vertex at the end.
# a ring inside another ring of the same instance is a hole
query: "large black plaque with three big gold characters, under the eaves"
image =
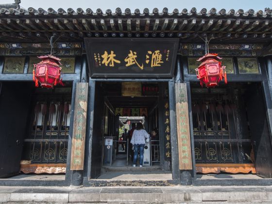
{"type": "Polygon", "coordinates": [[[170,78],[178,39],[85,38],[90,77],[170,78]]]}

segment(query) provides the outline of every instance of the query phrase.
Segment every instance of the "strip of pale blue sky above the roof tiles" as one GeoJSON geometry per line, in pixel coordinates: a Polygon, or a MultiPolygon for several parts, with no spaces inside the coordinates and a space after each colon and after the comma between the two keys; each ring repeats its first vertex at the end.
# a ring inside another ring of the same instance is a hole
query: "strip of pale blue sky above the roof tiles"
{"type": "MultiPolygon", "coordinates": [[[[14,0],[0,0],[2,3],[13,3],[14,0]]],[[[164,7],[172,12],[174,8],[182,9],[187,8],[188,11],[192,7],[196,7],[197,11],[202,8],[206,8],[208,11],[211,8],[216,8],[218,11],[222,8],[229,11],[230,9],[243,9],[245,12],[249,9],[254,9],[255,12],[258,10],[264,10],[266,7],[272,9],[272,0],[21,0],[21,7],[29,8],[33,7],[35,9],[43,8],[48,9],[52,7],[57,10],[58,8],[63,8],[67,10],[68,8],[86,8],[92,9],[94,12],[97,8],[101,8],[103,12],[106,9],[111,9],[115,12],[117,7],[121,8],[122,12],[126,8],[130,8],[134,12],[136,8],[140,9],[141,13],[144,8],[148,8],[152,12],[153,8],[158,8],[161,12],[164,7]]]]}

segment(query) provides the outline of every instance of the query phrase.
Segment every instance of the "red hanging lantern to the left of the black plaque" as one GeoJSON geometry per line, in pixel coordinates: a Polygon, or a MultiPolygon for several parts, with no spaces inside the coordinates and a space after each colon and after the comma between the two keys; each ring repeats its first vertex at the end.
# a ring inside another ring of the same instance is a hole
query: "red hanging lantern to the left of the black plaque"
{"type": "Polygon", "coordinates": [[[64,85],[62,79],[60,79],[61,59],[52,55],[39,56],[38,58],[42,61],[34,64],[33,69],[33,81],[36,87],[39,86],[38,82],[45,88],[53,88],[57,84],[64,85]]]}

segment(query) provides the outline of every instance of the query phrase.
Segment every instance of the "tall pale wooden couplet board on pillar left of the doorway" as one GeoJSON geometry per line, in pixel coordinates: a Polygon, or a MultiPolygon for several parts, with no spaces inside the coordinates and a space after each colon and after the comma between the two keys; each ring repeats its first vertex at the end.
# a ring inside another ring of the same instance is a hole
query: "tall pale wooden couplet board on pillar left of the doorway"
{"type": "Polygon", "coordinates": [[[88,83],[77,83],[70,170],[83,170],[88,83]]]}

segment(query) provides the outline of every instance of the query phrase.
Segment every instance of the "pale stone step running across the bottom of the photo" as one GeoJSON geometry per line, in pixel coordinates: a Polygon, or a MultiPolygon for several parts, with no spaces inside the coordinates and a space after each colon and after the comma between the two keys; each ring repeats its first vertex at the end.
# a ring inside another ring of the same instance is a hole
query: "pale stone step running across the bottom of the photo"
{"type": "Polygon", "coordinates": [[[2,204],[272,204],[270,187],[0,187],[2,204]]]}

